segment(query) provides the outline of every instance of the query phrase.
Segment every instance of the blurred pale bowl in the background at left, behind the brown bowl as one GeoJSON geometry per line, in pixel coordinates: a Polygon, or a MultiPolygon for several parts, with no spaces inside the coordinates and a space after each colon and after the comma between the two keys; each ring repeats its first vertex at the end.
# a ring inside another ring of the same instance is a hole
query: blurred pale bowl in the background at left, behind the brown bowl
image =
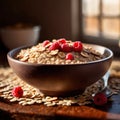
{"type": "Polygon", "coordinates": [[[40,37],[40,26],[31,24],[15,24],[1,28],[1,40],[9,49],[23,45],[34,45],[40,37]]]}

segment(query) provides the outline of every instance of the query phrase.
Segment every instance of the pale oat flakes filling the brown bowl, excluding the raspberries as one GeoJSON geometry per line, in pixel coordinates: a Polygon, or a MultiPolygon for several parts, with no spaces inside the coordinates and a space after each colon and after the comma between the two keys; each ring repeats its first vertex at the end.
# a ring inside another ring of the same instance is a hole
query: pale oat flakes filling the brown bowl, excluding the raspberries
{"type": "MultiPolygon", "coordinates": [[[[70,51],[74,55],[74,60],[66,60],[66,54],[68,52],[63,52],[61,49],[50,50],[49,47],[53,42],[57,40],[52,40],[46,46],[43,43],[39,43],[31,48],[22,49],[16,56],[16,59],[22,62],[37,63],[37,64],[82,64],[90,61],[95,61],[104,58],[97,50],[92,47],[83,44],[82,51],[76,52],[74,50],[70,51]]],[[[67,41],[69,46],[73,45],[72,41],[67,41]]]]}

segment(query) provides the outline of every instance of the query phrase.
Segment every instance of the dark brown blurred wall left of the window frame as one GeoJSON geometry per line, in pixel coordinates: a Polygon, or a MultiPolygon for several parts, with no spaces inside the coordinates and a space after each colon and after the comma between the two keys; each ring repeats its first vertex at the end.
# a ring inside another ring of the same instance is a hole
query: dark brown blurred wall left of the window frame
{"type": "Polygon", "coordinates": [[[39,24],[40,41],[71,39],[71,0],[0,0],[0,27],[17,22],[39,24]]]}

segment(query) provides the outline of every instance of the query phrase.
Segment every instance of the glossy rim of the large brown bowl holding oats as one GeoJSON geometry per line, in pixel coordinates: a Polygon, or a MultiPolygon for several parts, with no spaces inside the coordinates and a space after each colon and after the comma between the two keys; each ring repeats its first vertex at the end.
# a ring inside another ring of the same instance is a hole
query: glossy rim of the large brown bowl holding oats
{"type": "Polygon", "coordinates": [[[16,62],[16,63],[20,63],[20,64],[23,64],[23,65],[32,65],[32,66],[41,66],[41,65],[44,65],[44,66],[75,66],[75,65],[88,65],[88,64],[95,64],[95,63],[99,63],[99,62],[102,62],[102,61],[106,61],[108,59],[112,59],[113,58],[113,52],[111,49],[105,47],[105,46],[102,46],[102,45],[96,45],[96,44],[89,44],[89,43],[83,43],[83,44],[86,44],[86,45],[91,45],[91,46],[98,46],[98,47],[103,47],[105,50],[107,50],[110,55],[105,57],[105,58],[102,58],[102,59],[99,59],[99,60],[95,60],[95,61],[90,61],[90,62],[86,62],[86,63],[76,63],[76,64],[71,64],[71,63],[68,63],[68,64],[39,64],[39,63],[28,63],[28,62],[22,62],[22,61],[19,61],[17,59],[15,59],[12,54],[13,53],[16,53],[16,51],[20,51],[21,49],[24,49],[24,48],[30,48],[32,47],[31,45],[30,46],[20,46],[20,47],[17,47],[17,48],[14,48],[12,50],[10,50],[8,53],[7,53],[7,58],[8,59],[11,59],[12,61],[16,62]]]}

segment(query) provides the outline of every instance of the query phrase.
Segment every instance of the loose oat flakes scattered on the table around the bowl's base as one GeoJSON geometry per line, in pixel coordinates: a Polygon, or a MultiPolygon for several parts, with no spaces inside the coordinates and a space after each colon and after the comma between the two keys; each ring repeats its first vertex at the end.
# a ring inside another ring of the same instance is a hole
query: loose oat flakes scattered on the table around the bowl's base
{"type": "MultiPolygon", "coordinates": [[[[118,82],[118,81],[117,81],[118,82]]],[[[113,83],[112,83],[113,84],[113,83]]],[[[119,82],[120,85],[120,82],[119,82]]],[[[93,85],[86,88],[82,95],[74,97],[50,97],[45,96],[38,89],[28,85],[12,71],[11,68],[0,68],[0,97],[9,100],[10,102],[18,102],[21,105],[44,104],[46,106],[72,104],[86,105],[91,104],[91,95],[103,88],[102,80],[97,81],[93,85]],[[22,98],[12,96],[11,91],[15,86],[21,86],[24,94],[22,98]]]]}

